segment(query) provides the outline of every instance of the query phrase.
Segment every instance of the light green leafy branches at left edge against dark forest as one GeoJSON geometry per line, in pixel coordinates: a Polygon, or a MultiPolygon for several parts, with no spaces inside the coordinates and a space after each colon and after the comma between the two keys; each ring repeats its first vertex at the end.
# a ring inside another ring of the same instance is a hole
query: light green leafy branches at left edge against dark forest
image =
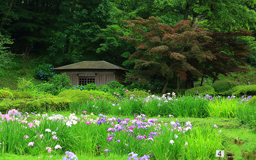
{"type": "Polygon", "coordinates": [[[0,67],[12,62],[12,58],[15,56],[11,51],[8,51],[10,47],[6,47],[6,44],[13,44],[13,41],[0,33],[0,67]]]}

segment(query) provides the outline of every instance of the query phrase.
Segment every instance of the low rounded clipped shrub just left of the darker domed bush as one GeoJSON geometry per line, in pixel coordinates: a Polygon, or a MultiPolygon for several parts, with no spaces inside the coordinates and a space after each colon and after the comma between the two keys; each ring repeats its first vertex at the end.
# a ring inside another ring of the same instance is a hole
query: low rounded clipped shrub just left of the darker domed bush
{"type": "Polygon", "coordinates": [[[212,88],[212,86],[210,86],[210,85],[204,85],[201,87],[191,88],[191,89],[188,89],[185,93],[186,94],[198,94],[197,92],[201,95],[206,95],[206,94],[214,95],[216,93],[214,91],[214,88],[212,88]]]}

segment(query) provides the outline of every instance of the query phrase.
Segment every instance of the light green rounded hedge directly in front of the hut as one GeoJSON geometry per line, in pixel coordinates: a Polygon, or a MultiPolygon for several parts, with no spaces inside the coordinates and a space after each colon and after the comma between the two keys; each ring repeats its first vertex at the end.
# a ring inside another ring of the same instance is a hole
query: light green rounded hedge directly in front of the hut
{"type": "Polygon", "coordinates": [[[109,93],[105,93],[102,91],[93,91],[93,90],[91,90],[91,91],[65,90],[63,92],[60,92],[58,96],[66,98],[69,101],[75,101],[75,102],[79,102],[79,103],[87,101],[90,98],[96,99],[97,97],[100,97],[100,99],[110,100],[110,101],[116,100],[116,97],[110,95],[109,93]],[[90,95],[91,95],[91,97],[90,97],[90,95]]]}

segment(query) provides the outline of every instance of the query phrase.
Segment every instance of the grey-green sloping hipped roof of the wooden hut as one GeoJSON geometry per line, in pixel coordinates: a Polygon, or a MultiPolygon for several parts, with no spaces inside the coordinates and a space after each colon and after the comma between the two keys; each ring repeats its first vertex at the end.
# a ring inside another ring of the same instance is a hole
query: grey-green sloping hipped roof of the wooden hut
{"type": "Polygon", "coordinates": [[[83,61],[83,62],[70,64],[67,66],[53,68],[53,70],[58,70],[58,69],[122,69],[122,70],[127,70],[125,68],[116,66],[116,65],[106,62],[104,60],[102,60],[102,61],[83,61]]]}

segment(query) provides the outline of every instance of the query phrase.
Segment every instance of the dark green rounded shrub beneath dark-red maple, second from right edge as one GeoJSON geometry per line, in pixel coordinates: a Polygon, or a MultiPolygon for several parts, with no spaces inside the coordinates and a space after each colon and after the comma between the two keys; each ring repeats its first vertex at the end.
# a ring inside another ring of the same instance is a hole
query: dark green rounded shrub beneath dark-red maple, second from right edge
{"type": "Polygon", "coordinates": [[[233,87],[238,86],[238,84],[235,81],[230,81],[227,79],[216,81],[212,84],[212,87],[214,88],[215,92],[225,92],[233,87]]]}

